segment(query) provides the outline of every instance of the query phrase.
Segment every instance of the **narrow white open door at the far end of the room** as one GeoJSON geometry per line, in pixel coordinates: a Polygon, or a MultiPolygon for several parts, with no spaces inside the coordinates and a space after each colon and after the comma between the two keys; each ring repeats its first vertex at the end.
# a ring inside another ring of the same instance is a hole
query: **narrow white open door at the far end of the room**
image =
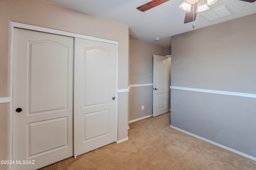
{"type": "Polygon", "coordinates": [[[153,55],[153,117],[168,112],[168,57],[153,55]]]}

